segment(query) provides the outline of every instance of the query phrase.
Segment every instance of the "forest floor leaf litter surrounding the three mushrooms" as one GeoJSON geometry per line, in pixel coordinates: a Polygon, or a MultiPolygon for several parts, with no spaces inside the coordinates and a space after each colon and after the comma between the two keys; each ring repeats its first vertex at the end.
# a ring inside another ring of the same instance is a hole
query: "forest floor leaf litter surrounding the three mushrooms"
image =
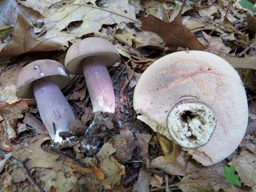
{"type": "Polygon", "coordinates": [[[247,0],[2,1],[0,191],[255,191],[253,4],[247,0]],[[121,55],[121,62],[109,69],[116,112],[93,114],[84,79],[71,75],[63,92],[76,121],[62,134],[74,140],[54,149],[35,100],[17,98],[15,81],[31,61],[50,58],[63,64],[65,50],[90,36],[107,39],[121,55]],[[241,75],[249,98],[249,125],[241,145],[210,167],[152,132],[132,109],[134,87],[143,71],[180,50],[210,51],[227,60],[241,75]]]}

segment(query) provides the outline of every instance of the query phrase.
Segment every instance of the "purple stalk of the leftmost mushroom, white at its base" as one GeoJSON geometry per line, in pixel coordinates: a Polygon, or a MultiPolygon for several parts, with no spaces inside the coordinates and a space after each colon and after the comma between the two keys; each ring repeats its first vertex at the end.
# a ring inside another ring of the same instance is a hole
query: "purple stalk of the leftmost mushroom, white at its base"
{"type": "Polygon", "coordinates": [[[51,77],[34,82],[34,94],[42,121],[54,142],[62,142],[59,133],[68,131],[74,113],[59,86],[51,77]]]}

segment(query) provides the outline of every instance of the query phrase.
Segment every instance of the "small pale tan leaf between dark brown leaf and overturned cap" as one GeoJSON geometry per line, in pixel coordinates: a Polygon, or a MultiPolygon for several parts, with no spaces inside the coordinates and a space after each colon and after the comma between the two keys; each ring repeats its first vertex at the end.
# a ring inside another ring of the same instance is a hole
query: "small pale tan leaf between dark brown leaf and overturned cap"
{"type": "Polygon", "coordinates": [[[202,31],[204,38],[207,40],[209,45],[207,46],[207,50],[218,51],[221,53],[229,53],[231,50],[230,47],[226,46],[220,37],[212,37],[207,35],[204,31],[202,31]]]}

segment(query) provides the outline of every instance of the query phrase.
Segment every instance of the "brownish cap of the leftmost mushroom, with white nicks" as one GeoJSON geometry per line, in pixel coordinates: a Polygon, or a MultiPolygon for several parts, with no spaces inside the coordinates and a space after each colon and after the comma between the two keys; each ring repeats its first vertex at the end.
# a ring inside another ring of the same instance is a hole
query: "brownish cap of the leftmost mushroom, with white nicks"
{"type": "Polygon", "coordinates": [[[70,80],[65,67],[59,62],[50,59],[36,60],[20,71],[16,82],[17,97],[34,98],[33,82],[47,76],[52,76],[60,89],[70,80]]]}

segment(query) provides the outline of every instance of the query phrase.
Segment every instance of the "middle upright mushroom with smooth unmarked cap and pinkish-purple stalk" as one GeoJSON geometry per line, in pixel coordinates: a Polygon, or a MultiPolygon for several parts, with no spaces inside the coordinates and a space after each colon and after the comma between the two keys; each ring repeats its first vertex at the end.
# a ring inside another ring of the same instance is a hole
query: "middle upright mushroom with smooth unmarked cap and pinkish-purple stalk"
{"type": "Polygon", "coordinates": [[[66,69],[72,74],[84,74],[94,112],[115,112],[115,94],[107,67],[118,60],[115,46],[98,37],[85,38],[67,52],[66,69]]]}

